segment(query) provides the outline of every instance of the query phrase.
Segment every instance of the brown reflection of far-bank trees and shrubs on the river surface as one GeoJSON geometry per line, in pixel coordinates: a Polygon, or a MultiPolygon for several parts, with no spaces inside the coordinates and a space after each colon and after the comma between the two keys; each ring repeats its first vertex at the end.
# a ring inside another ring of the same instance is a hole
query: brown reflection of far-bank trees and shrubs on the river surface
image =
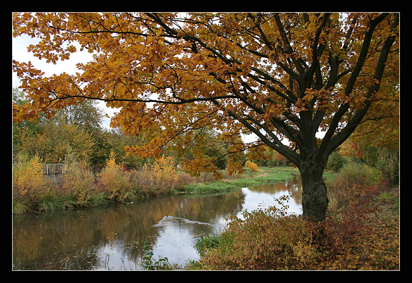
{"type": "MultiPolygon", "coordinates": [[[[114,242],[123,247],[123,256],[137,260],[143,255],[142,242],[148,236],[152,236],[152,243],[156,242],[161,230],[154,225],[164,216],[209,223],[217,215],[236,215],[243,202],[244,195],[239,190],[213,196],[185,194],[104,208],[16,216],[14,269],[87,269],[98,261],[96,252],[114,242]]],[[[190,229],[193,233],[205,232],[200,225],[191,225],[190,229]]]]}

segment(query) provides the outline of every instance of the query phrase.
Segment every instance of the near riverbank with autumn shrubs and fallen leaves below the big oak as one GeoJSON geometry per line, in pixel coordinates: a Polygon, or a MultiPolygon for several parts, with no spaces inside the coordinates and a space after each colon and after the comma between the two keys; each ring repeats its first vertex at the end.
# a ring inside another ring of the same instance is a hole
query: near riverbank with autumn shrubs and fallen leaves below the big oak
{"type": "Polygon", "coordinates": [[[327,180],[322,223],[283,216],[282,208],[246,212],[221,234],[196,244],[194,270],[399,270],[399,187],[351,165],[327,180]],[[275,217],[273,217],[275,216],[275,217]]]}

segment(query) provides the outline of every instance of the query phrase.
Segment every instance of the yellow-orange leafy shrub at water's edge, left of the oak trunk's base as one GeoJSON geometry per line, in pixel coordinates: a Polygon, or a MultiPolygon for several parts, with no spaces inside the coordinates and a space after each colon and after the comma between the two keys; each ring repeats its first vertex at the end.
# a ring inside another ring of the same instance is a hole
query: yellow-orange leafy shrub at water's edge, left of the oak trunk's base
{"type": "MultiPolygon", "coordinates": [[[[285,201],[290,196],[279,198],[285,201]]],[[[310,269],[317,256],[312,245],[315,224],[291,215],[287,206],[244,211],[243,219],[229,218],[217,248],[207,250],[200,265],[219,270],[310,269]]],[[[215,240],[216,242],[216,240],[215,240]]]]}

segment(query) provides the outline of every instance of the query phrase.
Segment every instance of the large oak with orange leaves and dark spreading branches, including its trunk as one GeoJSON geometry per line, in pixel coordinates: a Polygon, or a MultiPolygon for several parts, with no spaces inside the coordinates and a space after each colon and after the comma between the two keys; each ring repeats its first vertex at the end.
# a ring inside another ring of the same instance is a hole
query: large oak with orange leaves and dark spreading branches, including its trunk
{"type": "Polygon", "coordinates": [[[14,36],[37,37],[29,50],[38,58],[65,60],[77,44],[94,60],[76,75],[51,77],[13,61],[30,98],[14,104],[13,115],[51,117],[82,100],[105,100],[120,109],[111,124],[124,133],[161,129],[129,148],[142,157],[210,125],[228,152],[267,145],[293,162],[303,216],[323,220],[329,155],[398,84],[398,23],[391,13],[16,13],[14,36]],[[246,133],[258,140],[239,142],[246,133]]]}

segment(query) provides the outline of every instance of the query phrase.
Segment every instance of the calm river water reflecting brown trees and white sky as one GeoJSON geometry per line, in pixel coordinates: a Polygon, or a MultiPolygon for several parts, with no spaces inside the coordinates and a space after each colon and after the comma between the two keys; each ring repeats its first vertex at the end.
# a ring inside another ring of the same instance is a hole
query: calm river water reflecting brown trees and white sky
{"type": "Polygon", "coordinates": [[[291,194],[288,213],[301,214],[301,180],[221,194],[182,194],[77,209],[13,216],[14,270],[140,270],[143,241],[153,259],[184,266],[198,260],[200,235],[220,232],[229,216],[276,205],[291,194]]]}

